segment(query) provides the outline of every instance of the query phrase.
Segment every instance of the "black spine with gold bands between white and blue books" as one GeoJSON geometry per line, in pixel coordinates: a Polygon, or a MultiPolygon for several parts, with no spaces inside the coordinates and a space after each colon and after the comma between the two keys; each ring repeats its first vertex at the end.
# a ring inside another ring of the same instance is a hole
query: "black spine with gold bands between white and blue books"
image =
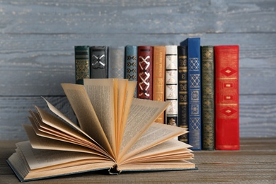
{"type": "MultiPolygon", "coordinates": [[[[188,130],[188,62],[187,47],[178,46],[178,127],[188,130]]],[[[188,134],[178,137],[188,143],[188,134]]]]}

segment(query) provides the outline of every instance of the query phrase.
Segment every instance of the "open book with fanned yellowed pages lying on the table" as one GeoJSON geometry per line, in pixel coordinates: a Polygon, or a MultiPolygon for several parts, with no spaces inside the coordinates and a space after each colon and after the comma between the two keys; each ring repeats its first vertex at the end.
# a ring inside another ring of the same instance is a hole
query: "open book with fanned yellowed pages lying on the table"
{"type": "Polygon", "coordinates": [[[163,171],[194,169],[188,144],[174,137],[187,130],[160,123],[168,102],[133,98],[136,82],[84,79],[84,85],[62,84],[79,126],[47,100],[49,110],[35,106],[29,141],[16,144],[7,162],[21,181],[107,169],[163,171]]]}

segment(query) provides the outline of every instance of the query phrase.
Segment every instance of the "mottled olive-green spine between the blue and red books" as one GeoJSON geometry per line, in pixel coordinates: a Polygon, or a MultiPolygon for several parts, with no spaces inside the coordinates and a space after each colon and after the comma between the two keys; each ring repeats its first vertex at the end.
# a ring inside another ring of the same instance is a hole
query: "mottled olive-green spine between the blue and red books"
{"type": "Polygon", "coordinates": [[[201,47],[202,149],[214,150],[214,47],[201,47]]]}

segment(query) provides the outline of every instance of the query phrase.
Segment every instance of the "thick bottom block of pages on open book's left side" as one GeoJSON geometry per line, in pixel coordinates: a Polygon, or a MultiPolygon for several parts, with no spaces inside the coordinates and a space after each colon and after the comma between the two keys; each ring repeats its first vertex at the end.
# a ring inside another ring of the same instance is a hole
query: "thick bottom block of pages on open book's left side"
{"type": "Polygon", "coordinates": [[[32,149],[28,142],[17,146],[16,153],[10,156],[8,161],[23,180],[109,169],[114,165],[113,161],[84,153],[32,149]]]}

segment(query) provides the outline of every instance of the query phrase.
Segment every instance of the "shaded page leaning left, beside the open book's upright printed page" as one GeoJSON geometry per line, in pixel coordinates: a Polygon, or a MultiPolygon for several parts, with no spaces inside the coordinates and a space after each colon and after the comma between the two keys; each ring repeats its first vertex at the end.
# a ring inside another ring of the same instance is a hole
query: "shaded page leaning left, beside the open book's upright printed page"
{"type": "Polygon", "coordinates": [[[79,120],[81,130],[84,130],[84,132],[98,142],[98,144],[103,146],[111,156],[114,156],[113,150],[100,125],[84,86],[78,84],[62,84],[62,88],[79,120]]]}

